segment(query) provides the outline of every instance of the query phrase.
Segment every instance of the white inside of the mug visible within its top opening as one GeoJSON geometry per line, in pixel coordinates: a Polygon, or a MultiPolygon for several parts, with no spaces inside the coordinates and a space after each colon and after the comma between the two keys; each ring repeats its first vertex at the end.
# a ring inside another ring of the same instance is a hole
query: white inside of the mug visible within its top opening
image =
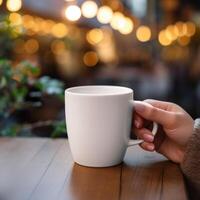
{"type": "Polygon", "coordinates": [[[133,93],[133,90],[121,86],[79,86],[68,88],[66,92],[78,95],[120,95],[133,93]]]}

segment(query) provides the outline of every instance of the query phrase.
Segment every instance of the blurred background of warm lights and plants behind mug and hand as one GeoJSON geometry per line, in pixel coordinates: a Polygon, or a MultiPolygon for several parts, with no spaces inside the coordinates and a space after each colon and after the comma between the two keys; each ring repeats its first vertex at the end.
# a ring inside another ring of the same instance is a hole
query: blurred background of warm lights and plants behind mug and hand
{"type": "Polygon", "coordinates": [[[0,0],[0,135],[65,136],[63,91],[133,88],[200,116],[200,1],[0,0]]]}

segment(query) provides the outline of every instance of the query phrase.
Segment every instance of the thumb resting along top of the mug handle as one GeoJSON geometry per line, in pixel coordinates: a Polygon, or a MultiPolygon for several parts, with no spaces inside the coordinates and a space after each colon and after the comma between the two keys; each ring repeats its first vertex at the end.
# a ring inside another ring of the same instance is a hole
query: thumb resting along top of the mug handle
{"type": "Polygon", "coordinates": [[[144,119],[157,122],[165,128],[170,128],[174,123],[173,112],[154,107],[146,102],[135,101],[134,109],[144,119]]]}

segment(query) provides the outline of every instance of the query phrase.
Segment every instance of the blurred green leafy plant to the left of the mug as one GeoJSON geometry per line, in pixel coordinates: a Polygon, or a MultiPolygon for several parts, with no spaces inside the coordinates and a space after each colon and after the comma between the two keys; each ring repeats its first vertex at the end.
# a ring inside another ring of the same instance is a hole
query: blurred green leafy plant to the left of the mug
{"type": "MultiPolygon", "coordinates": [[[[17,111],[34,106],[33,102],[27,101],[31,89],[37,90],[40,96],[56,95],[64,99],[63,83],[47,76],[38,78],[39,74],[40,68],[28,61],[13,65],[9,60],[0,59],[0,136],[15,136],[24,131],[23,124],[13,122],[11,118],[17,111]]],[[[62,123],[52,121],[53,137],[65,132],[62,123]]],[[[42,126],[43,123],[39,124],[42,126]]]]}

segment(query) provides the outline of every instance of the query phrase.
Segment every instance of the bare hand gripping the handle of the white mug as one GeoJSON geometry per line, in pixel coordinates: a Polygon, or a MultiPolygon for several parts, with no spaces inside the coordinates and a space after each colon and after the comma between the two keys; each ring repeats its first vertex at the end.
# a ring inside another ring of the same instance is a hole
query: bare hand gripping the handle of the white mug
{"type": "Polygon", "coordinates": [[[134,133],[144,140],[141,147],[147,151],[156,150],[168,159],[181,163],[193,132],[192,117],[174,103],[157,100],[135,101],[134,108],[134,133]],[[155,138],[145,128],[146,120],[160,125],[155,138]]]}

